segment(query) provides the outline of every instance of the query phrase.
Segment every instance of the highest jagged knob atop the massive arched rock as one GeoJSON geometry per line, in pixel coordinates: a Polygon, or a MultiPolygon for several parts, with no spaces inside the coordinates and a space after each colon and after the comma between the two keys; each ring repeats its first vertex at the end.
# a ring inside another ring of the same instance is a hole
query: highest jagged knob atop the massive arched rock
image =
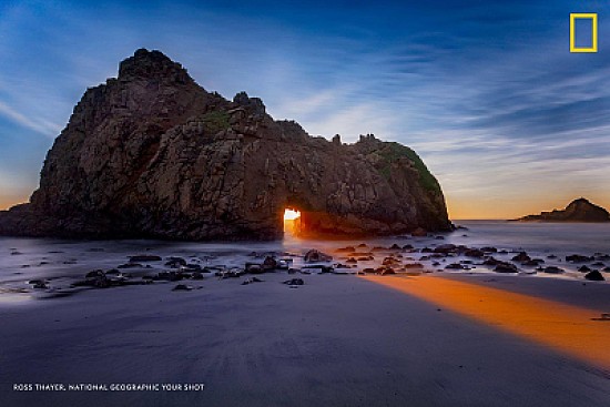
{"type": "Polygon", "coordinates": [[[175,83],[193,82],[182,64],[172,61],[163,52],[141,48],[133,57],[119,64],[119,80],[157,79],[175,83]]]}

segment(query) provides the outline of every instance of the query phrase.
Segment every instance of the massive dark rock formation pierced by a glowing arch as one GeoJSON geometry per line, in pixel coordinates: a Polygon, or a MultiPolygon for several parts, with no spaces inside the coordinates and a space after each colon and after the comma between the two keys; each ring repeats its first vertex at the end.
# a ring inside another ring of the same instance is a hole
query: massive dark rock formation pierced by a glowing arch
{"type": "Polygon", "coordinates": [[[88,89],[47,155],[30,203],[0,234],[277,238],[286,207],[305,233],[447,231],[445,200],[417,154],[274,121],[257,98],[209,93],[181,64],[138,50],[88,89]]]}

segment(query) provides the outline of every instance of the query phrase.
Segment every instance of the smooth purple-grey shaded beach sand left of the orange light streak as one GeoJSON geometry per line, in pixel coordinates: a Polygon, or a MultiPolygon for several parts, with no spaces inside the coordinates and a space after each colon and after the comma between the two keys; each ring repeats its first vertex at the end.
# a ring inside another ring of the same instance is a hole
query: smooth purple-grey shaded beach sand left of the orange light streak
{"type": "MultiPolygon", "coordinates": [[[[607,369],[396,289],[398,278],[297,275],[304,286],[281,284],[292,277],[265,274],[264,283],[246,286],[238,279],[190,282],[203,287],[192,292],[155,284],[0,304],[0,405],[610,405],[607,369]],[[204,383],[205,390],[18,393],[13,383],[204,383]]],[[[536,278],[514,278],[512,285],[530,291],[528,298],[539,289],[530,283],[536,278]]],[[[408,283],[419,279],[461,282],[408,283]]],[[[555,283],[550,291],[561,296],[571,283],[555,283]]],[[[610,303],[610,285],[588,287],[582,295],[610,303]]]]}

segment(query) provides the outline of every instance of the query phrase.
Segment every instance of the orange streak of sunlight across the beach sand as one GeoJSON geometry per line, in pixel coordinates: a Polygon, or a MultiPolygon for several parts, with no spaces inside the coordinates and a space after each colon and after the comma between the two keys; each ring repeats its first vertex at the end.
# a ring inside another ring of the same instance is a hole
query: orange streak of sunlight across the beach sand
{"type": "Polygon", "coordinates": [[[610,353],[607,348],[610,327],[593,319],[606,309],[581,308],[444,277],[363,278],[443,305],[466,317],[576,356],[593,366],[610,368],[610,353]]]}

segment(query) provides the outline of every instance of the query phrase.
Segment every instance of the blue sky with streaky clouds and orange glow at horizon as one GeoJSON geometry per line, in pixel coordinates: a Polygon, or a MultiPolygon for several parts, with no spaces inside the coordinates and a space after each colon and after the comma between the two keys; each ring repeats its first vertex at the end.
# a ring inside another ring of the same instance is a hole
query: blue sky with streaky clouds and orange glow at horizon
{"type": "Polygon", "coordinates": [[[3,0],[0,208],[29,199],[83,92],[139,48],[309,134],[413,147],[454,220],[610,208],[610,2],[589,0],[3,0]],[[571,12],[598,13],[597,53],[569,52],[571,12]]]}

